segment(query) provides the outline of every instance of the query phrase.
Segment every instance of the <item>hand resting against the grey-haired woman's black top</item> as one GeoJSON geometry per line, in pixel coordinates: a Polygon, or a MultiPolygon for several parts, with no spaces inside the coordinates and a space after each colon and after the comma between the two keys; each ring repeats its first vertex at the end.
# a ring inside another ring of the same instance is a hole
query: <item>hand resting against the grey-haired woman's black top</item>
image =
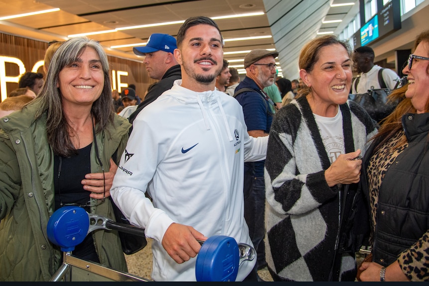
{"type": "Polygon", "coordinates": [[[114,174],[116,174],[117,165],[110,158],[110,169],[108,172],[103,173],[90,173],[85,175],[85,179],[82,180],[82,185],[84,185],[84,190],[91,191],[90,197],[101,199],[103,198],[103,193],[106,190],[106,197],[110,196],[110,188],[113,183],[114,174]],[[106,179],[106,183],[104,182],[106,179]],[[105,185],[106,184],[106,185],[105,185]]]}

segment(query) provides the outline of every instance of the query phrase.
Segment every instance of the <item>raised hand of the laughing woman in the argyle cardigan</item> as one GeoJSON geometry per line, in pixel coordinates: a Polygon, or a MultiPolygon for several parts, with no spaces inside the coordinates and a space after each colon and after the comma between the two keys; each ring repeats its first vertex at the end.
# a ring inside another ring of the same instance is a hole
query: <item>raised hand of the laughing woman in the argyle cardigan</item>
{"type": "Polygon", "coordinates": [[[329,187],[337,184],[358,183],[362,160],[353,160],[360,155],[360,150],[341,154],[325,171],[324,176],[329,187]]]}

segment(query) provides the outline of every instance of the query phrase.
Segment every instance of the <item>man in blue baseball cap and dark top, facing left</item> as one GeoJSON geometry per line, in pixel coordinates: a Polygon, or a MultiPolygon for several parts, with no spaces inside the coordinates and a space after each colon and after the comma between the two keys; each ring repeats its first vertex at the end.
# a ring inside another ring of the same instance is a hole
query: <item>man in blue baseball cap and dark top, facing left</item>
{"type": "MultiPolygon", "coordinates": [[[[143,101],[129,116],[130,123],[147,104],[171,89],[175,80],[182,79],[180,65],[173,55],[174,49],[177,49],[176,39],[168,34],[158,33],[150,35],[146,46],[133,48],[134,54],[145,56],[143,63],[149,77],[159,82],[150,87],[143,101]]],[[[129,130],[131,132],[132,127],[129,130]]]]}

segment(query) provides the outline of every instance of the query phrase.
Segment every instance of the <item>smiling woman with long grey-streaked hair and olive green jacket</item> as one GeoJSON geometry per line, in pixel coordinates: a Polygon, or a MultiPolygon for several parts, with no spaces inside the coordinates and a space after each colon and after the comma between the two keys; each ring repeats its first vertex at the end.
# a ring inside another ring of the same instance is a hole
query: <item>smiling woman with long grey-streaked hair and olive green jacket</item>
{"type": "MultiPolygon", "coordinates": [[[[51,278],[62,253],[46,225],[61,206],[113,217],[112,158],[130,124],[113,111],[108,68],[98,42],[72,38],[54,54],[39,96],[1,119],[0,280],[51,278]]],[[[127,271],[116,231],[92,232],[73,254],[127,271]]]]}

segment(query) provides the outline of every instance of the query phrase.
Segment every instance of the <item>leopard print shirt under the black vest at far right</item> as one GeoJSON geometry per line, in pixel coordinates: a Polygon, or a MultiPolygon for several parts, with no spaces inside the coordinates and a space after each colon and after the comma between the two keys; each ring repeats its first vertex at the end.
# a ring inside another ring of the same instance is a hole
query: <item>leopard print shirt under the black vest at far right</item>
{"type": "MultiPolygon", "coordinates": [[[[381,182],[386,175],[389,167],[395,162],[402,151],[407,148],[408,143],[396,147],[401,137],[405,136],[404,131],[398,132],[395,136],[386,142],[369,160],[368,166],[368,186],[370,191],[370,205],[372,212],[372,229],[370,242],[373,241],[373,233],[377,222],[376,213],[378,205],[378,193],[381,182]],[[386,160],[389,158],[389,160],[386,160]]],[[[428,232],[412,245],[404,250],[398,257],[398,263],[411,281],[429,281],[429,236],[428,232]]]]}

